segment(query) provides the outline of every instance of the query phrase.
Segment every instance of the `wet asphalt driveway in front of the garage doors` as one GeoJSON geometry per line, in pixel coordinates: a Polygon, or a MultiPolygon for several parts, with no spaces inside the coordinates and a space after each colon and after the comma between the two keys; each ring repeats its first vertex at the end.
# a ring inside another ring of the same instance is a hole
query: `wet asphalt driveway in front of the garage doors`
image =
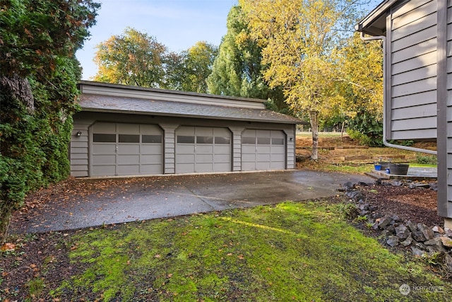
{"type": "MultiPolygon", "coordinates": [[[[95,185],[102,180],[76,180],[95,185]]],[[[373,182],[365,175],[287,170],[258,173],[114,178],[111,185],[78,196],[55,194],[42,207],[16,212],[10,233],[63,231],[102,224],[302,201],[338,194],[345,182],[373,182]]]]}

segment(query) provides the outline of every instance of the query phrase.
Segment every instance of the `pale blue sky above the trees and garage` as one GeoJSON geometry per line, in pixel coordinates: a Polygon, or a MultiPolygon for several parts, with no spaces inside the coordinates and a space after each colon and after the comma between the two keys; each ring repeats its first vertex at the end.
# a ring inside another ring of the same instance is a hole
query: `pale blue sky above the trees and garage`
{"type": "MultiPolygon", "coordinates": [[[[121,35],[126,27],[155,37],[169,51],[182,52],[198,41],[219,46],[226,34],[227,14],[237,0],[97,0],[102,6],[90,38],[76,52],[83,68],[83,80],[97,72],[93,62],[95,47],[112,35],[121,35]]],[[[379,0],[369,6],[374,8],[379,0]],[[375,4],[376,3],[376,4],[375,4]]]]}

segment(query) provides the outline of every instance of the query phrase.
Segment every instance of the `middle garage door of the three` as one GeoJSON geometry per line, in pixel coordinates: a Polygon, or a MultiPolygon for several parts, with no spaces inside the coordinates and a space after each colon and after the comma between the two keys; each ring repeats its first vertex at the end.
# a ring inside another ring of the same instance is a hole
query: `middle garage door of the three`
{"type": "Polygon", "coordinates": [[[176,131],[176,173],[231,170],[231,132],[226,128],[180,127],[176,131]]]}

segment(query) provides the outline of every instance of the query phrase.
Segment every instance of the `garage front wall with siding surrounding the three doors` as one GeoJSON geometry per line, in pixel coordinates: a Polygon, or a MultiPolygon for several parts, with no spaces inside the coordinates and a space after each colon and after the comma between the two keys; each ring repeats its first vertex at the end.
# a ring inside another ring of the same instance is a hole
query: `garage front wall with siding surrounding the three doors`
{"type": "Polygon", "coordinates": [[[74,115],[71,137],[71,175],[90,176],[90,126],[95,122],[124,122],[133,124],[158,124],[164,132],[164,173],[175,173],[175,133],[181,126],[225,127],[232,133],[232,171],[242,170],[242,133],[245,129],[271,129],[285,133],[286,165],[295,168],[295,125],[266,122],[239,122],[227,120],[204,120],[194,118],[159,117],[148,115],[126,115],[104,112],[78,112],[74,115]],[[81,136],[76,133],[81,131],[81,136]]]}

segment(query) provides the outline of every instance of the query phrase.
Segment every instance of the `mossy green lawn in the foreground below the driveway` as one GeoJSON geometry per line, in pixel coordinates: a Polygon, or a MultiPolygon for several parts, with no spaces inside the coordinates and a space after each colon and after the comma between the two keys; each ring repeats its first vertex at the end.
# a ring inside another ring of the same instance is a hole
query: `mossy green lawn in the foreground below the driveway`
{"type": "MultiPolygon", "coordinates": [[[[284,202],[54,233],[66,263],[46,256],[18,287],[30,301],[452,301],[450,282],[364,236],[346,212],[284,202]],[[57,269],[66,277],[49,280],[57,269]]],[[[0,299],[17,299],[8,293],[0,277],[0,299]]]]}

